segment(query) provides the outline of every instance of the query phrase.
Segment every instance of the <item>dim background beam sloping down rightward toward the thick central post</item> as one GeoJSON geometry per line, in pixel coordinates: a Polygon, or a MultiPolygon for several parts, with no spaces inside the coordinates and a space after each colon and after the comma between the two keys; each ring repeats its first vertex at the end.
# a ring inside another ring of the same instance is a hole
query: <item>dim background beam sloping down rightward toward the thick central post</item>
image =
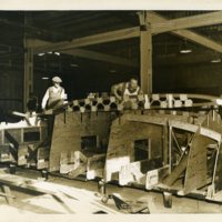
{"type": "Polygon", "coordinates": [[[137,61],[132,61],[129,59],[123,59],[120,57],[114,57],[114,56],[110,56],[110,54],[105,54],[105,53],[94,52],[94,51],[90,51],[90,50],[72,49],[72,50],[65,50],[65,51],[60,51],[60,52],[70,54],[70,56],[74,56],[74,57],[97,60],[97,61],[104,61],[104,62],[110,62],[110,63],[115,63],[115,64],[122,64],[125,67],[133,67],[133,68],[139,67],[137,61]]]}

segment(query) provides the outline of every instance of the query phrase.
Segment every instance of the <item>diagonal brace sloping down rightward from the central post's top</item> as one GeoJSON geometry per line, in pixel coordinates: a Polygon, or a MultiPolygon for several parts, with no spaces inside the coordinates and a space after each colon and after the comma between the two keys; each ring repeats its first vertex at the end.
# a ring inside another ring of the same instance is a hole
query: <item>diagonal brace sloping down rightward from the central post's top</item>
{"type": "MultiPolygon", "coordinates": [[[[158,23],[158,22],[168,21],[168,19],[164,19],[163,17],[161,17],[161,16],[154,13],[154,12],[151,12],[150,18],[151,18],[152,26],[154,26],[154,23],[158,23]]],[[[206,37],[198,34],[193,31],[176,30],[176,31],[172,31],[171,33],[176,34],[179,37],[183,37],[183,38],[185,38],[190,41],[199,43],[199,44],[206,47],[209,49],[212,49],[214,51],[222,52],[222,44],[220,44],[220,43],[218,43],[218,42],[215,42],[215,41],[213,41],[213,40],[211,40],[206,37]]]]}

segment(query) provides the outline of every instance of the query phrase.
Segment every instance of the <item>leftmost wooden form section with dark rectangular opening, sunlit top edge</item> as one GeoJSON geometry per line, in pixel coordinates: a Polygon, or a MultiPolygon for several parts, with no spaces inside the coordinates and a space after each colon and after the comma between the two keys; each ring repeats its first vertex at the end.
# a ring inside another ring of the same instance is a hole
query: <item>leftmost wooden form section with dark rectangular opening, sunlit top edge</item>
{"type": "Polygon", "coordinates": [[[41,168],[38,164],[39,145],[47,138],[48,129],[43,121],[40,125],[29,125],[26,121],[0,124],[0,161],[41,168]]]}

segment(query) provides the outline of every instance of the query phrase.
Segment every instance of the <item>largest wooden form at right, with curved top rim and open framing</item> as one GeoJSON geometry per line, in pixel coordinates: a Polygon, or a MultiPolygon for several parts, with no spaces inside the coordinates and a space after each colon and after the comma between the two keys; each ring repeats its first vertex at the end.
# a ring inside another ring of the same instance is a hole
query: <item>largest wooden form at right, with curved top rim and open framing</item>
{"type": "Polygon", "coordinates": [[[189,115],[151,112],[123,114],[112,123],[105,182],[119,180],[121,185],[143,184],[148,190],[161,189],[179,195],[202,192],[202,198],[222,202],[222,188],[218,182],[221,176],[215,180],[215,173],[221,170],[218,159],[221,160],[221,121],[212,114],[193,120],[189,115]],[[167,127],[169,138],[162,134],[165,132],[163,127],[167,127]],[[135,160],[135,141],[144,139],[151,140],[151,148],[147,148],[151,155],[135,160]],[[206,195],[206,192],[211,194],[206,195]]]}

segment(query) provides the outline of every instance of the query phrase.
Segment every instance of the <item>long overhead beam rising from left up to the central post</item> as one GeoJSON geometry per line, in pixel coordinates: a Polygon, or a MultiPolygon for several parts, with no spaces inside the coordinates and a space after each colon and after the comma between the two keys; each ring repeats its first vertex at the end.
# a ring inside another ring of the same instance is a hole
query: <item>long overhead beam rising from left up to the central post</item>
{"type": "Polygon", "coordinates": [[[42,46],[39,48],[36,48],[34,46],[32,47],[36,48],[34,53],[40,53],[40,52],[47,52],[47,51],[52,51],[52,50],[57,50],[57,51],[69,50],[69,49],[85,47],[90,44],[119,41],[119,40],[135,38],[139,36],[140,36],[140,28],[133,27],[133,28],[121,29],[118,31],[110,31],[110,32],[93,34],[89,37],[82,37],[79,39],[73,39],[70,42],[67,41],[67,42],[50,43],[48,46],[42,46]]]}

